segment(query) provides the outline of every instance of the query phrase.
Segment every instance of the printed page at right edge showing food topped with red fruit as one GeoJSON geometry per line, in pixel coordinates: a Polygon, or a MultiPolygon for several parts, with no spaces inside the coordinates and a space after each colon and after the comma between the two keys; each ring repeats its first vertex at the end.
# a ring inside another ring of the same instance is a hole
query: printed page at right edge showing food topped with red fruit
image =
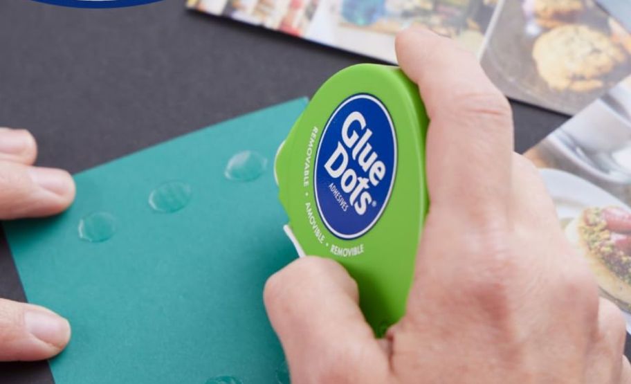
{"type": "Polygon", "coordinates": [[[631,332],[631,77],[526,156],[540,168],[577,257],[631,332]]]}

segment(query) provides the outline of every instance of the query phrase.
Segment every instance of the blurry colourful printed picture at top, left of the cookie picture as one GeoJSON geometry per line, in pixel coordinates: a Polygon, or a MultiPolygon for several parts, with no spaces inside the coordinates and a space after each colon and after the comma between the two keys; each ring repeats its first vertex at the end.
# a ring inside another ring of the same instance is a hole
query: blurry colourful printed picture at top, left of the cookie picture
{"type": "Polygon", "coordinates": [[[188,8],[396,63],[394,37],[425,26],[478,55],[497,0],[189,0],[188,8]]]}

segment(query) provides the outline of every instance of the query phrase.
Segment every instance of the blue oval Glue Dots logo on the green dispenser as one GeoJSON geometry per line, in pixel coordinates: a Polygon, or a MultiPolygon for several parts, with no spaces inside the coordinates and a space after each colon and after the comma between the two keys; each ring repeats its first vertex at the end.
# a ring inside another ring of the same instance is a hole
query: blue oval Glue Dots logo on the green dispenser
{"type": "Polygon", "coordinates": [[[356,239],[378,221],[396,174],[396,134],[390,113],[373,95],[351,96],[324,127],[315,155],[315,203],[324,225],[356,239]]]}

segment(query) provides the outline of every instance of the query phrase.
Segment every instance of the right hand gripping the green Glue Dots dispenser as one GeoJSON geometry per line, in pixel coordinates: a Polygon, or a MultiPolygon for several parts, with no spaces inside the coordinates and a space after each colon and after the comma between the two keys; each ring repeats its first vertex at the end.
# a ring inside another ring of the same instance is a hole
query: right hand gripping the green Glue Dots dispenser
{"type": "Polygon", "coordinates": [[[293,382],[630,383],[621,312],[598,298],[538,171],[513,152],[506,98],[446,38],[408,30],[396,51],[431,120],[408,310],[378,340],[340,264],[293,262],[264,294],[293,382]]]}

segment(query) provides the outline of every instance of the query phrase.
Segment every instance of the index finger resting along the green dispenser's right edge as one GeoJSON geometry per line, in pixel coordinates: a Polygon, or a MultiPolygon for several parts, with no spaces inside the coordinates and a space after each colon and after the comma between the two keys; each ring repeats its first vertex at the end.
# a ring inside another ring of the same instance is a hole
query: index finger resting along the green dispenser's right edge
{"type": "Polygon", "coordinates": [[[506,98],[475,56],[422,28],[396,38],[399,64],[419,86],[430,117],[427,177],[432,211],[477,223],[509,205],[513,122],[506,98]]]}

